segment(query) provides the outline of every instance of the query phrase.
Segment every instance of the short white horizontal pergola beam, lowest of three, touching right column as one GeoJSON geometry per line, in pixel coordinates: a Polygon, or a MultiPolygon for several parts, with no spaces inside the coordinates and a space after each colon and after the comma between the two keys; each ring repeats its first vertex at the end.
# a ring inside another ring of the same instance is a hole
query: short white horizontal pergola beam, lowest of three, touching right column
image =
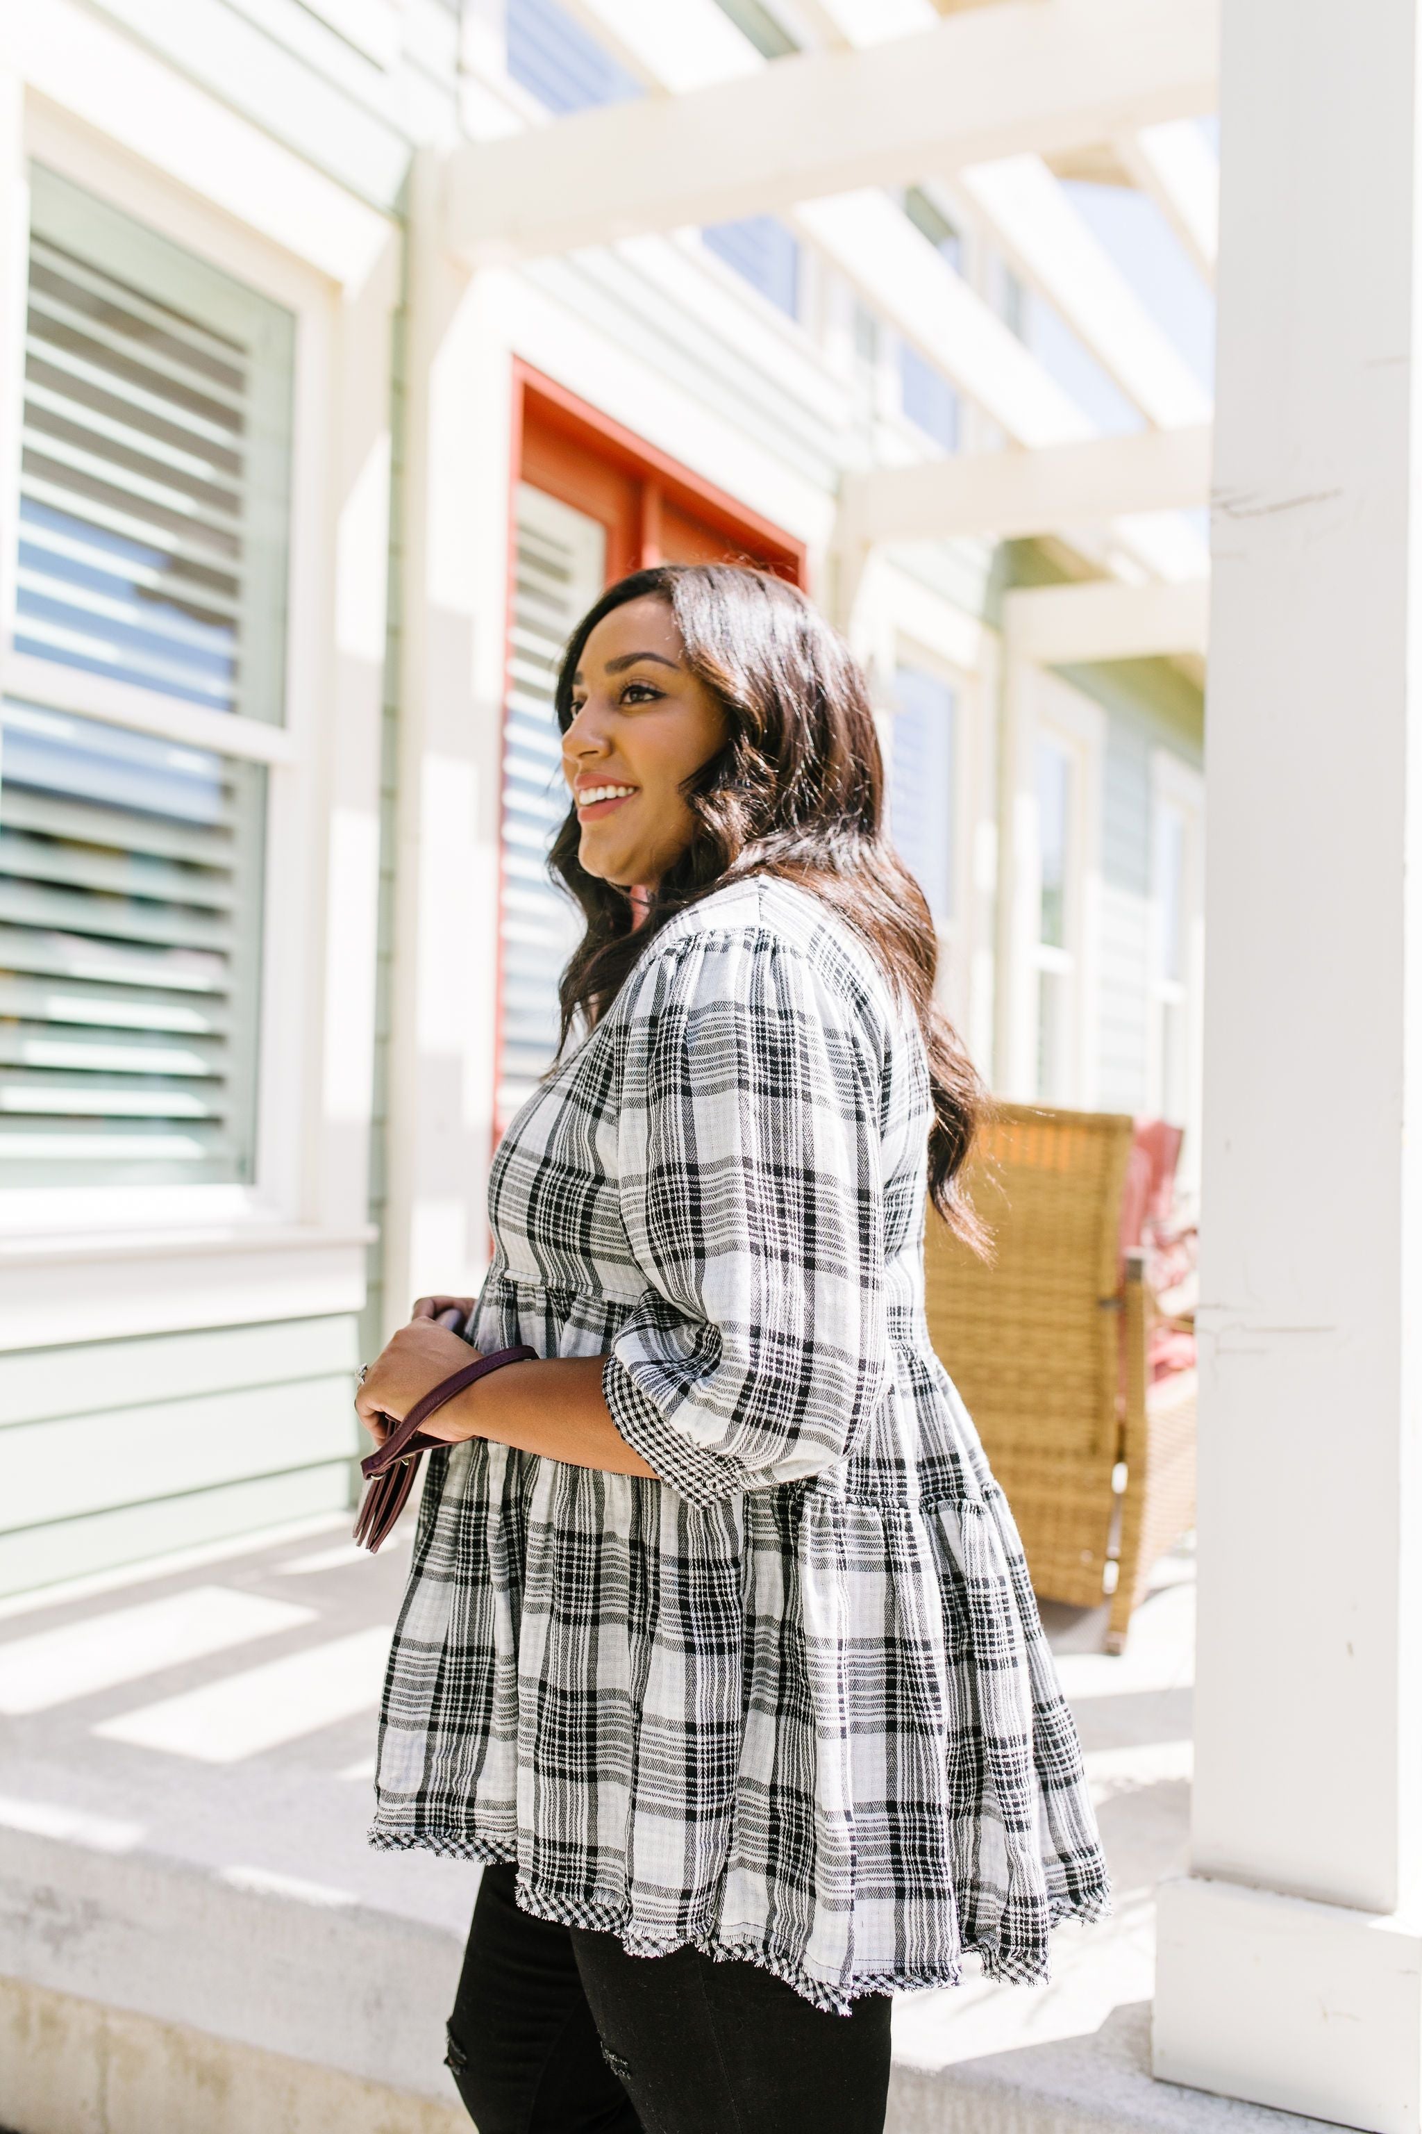
{"type": "Polygon", "coordinates": [[[1008,593],[1011,653],[1038,666],[1156,659],[1209,651],[1209,585],[1040,585],[1008,593]]]}

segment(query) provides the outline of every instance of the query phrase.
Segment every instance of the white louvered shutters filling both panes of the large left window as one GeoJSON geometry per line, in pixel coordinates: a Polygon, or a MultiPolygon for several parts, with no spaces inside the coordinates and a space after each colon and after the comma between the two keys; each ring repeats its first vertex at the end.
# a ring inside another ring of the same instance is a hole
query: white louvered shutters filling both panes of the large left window
{"type": "MultiPolygon", "coordinates": [[[[292,318],[32,177],[15,651],[279,719],[292,318]]],[[[62,681],[2,706],[0,1182],[252,1178],[264,773],[232,732],[62,681]]]]}

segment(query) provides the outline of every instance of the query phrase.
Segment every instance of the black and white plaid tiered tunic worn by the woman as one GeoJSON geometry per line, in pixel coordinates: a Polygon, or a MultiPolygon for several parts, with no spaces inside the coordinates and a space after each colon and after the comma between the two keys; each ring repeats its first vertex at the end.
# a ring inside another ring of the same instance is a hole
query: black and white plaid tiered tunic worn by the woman
{"type": "Polygon", "coordinates": [[[469,1334],[597,1355],[661,1481],[431,1455],[371,1842],[518,1863],[823,2008],[1109,1908],[1013,1517],[923,1317],[923,1041],[810,892],[716,890],[512,1120],[469,1334]]]}

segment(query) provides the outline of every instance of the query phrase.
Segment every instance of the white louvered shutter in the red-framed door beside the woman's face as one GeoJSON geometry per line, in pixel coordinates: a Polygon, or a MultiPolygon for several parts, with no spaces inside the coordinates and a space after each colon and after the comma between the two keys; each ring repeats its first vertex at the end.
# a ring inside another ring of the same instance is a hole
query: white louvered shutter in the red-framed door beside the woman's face
{"type": "Polygon", "coordinates": [[[520,484],[503,717],[499,1133],[554,1058],[559,975],[582,939],[582,913],[548,873],[569,807],[552,685],[567,638],[603,589],[605,548],[595,519],[520,484]]]}

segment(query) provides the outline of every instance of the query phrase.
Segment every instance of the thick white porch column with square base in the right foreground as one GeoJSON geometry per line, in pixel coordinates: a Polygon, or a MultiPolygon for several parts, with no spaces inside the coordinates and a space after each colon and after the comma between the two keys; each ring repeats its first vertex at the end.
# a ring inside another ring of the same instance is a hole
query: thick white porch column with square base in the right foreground
{"type": "Polygon", "coordinates": [[[1418,0],[1230,0],[1194,1872],[1156,2072],[1422,2117],[1418,0]]]}

